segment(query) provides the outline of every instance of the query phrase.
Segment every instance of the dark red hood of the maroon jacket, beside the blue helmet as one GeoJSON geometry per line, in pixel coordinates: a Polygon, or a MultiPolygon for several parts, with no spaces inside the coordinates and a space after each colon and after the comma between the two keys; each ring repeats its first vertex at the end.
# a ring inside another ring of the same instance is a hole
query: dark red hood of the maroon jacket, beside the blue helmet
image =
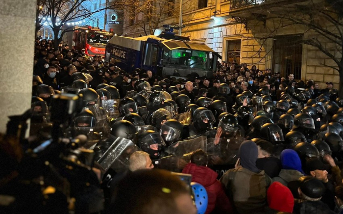
{"type": "Polygon", "coordinates": [[[218,174],[206,166],[198,166],[194,163],[188,163],[182,170],[182,173],[191,174],[192,182],[209,187],[217,181],[218,174]]]}

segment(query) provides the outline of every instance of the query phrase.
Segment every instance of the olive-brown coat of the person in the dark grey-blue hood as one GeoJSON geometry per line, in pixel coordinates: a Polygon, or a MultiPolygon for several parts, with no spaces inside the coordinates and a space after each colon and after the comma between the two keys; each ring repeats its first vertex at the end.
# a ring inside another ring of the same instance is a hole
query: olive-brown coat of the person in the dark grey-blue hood
{"type": "Polygon", "coordinates": [[[244,167],[230,169],[220,181],[233,200],[237,213],[248,214],[264,210],[267,189],[271,183],[270,177],[264,171],[255,173],[244,167]]]}

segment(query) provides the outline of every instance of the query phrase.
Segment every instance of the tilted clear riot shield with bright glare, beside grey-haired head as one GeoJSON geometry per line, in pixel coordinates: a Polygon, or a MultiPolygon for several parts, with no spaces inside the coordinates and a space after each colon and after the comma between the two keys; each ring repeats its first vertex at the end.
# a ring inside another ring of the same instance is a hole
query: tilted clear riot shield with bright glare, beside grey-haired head
{"type": "Polygon", "coordinates": [[[107,171],[110,167],[116,172],[123,172],[128,167],[130,155],[140,149],[129,139],[117,137],[98,163],[107,171]]]}

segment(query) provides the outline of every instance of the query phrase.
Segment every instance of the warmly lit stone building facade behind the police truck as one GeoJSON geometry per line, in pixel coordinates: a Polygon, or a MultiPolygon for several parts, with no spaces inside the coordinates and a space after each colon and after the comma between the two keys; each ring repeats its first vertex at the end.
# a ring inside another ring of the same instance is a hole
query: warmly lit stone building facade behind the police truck
{"type": "MultiPolygon", "coordinates": [[[[208,45],[221,54],[223,61],[245,62],[248,68],[256,65],[260,70],[271,68],[274,72],[279,71],[284,77],[294,73],[295,79],[304,81],[312,79],[319,82],[320,87],[323,88],[327,81],[339,82],[338,72],[334,68],[327,67],[327,65],[337,66],[332,59],[313,46],[294,44],[299,38],[313,36],[313,33],[306,28],[285,25],[270,33],[269,38],[261,39],[266,36],[266,29],[273,28],[278,20],[267,20],[265,23],[251,20],[247,27],[237,23],[237,17],[246,18],[246,14],[261,10],[261,6],[265,6],[262,9],[267,11],[271,7],[277,7],[278,2],[285,0],[245,0],[252,1],[253,4],[238,8],[233,8],[233,3],[239,0],[208,0],[207,7],[198,9],[196,6],[200,5],[200,1],[183,2],[186,6],[182,14],[182,24],[186,27],[182,29],[182,35],[189,36],[192,41],[208,45]]],[[[288,1],[294,3],[292,0],[288,1]]],[[[178,24],[178,17],[162,20],[160,29],[163,24],[178,24]]],[[[282,26],[282,23],[278,25],[282,26]]],[[[156,30],[155,34],[160,31],[156,30]]],[[[124,22],[123,34],[135,37],[144,32],[140,27],[129,26],[124,22]]],[[[325,47],[331,46],[332,51],[335,52],[335,44],[325,43],[325,47]]],[[[342,55],[340,51],[334,54],[337,57],[342,55]]],[[[334,87],[338,88],[338,84],[334,87]]]]}

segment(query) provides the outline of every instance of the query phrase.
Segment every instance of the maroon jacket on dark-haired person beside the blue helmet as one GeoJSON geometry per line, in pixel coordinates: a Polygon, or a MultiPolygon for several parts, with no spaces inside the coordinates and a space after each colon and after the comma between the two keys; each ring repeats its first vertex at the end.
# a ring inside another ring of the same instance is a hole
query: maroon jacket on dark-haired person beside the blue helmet
{"type": "Polygon", "coordinates": [[[224,192],[224,188],[217,180],[218,174],[206,166],[188,163],[182,173],[191,174],[192,182],[201,184],[206,188],[208,204],[205,214],[230,214],[233,213],[231,202],[224,192]]]}

